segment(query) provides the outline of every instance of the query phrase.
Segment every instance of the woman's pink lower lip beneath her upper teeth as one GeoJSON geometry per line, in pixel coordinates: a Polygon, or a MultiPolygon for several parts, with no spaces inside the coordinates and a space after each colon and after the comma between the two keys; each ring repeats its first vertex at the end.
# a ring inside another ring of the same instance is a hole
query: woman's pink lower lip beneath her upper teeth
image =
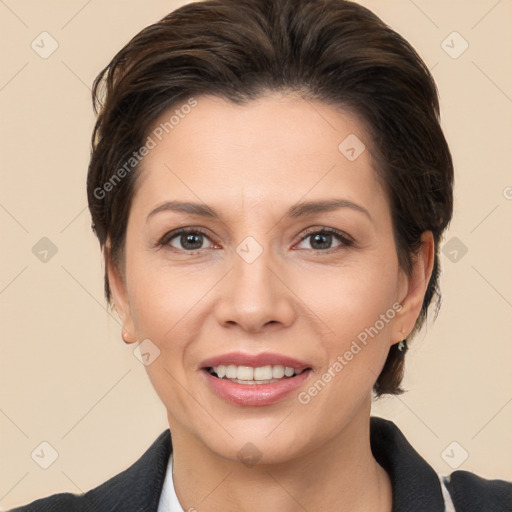
{"type": "Polygon", "coordinates": [[[214,393],[227,402],[247,407],[261,407],[279,402],[302,386],[310,373],[310,370],[304,370],[295,377],[283,378],[272,384],[238,384],[214,377],[206,369],[202,371],[214,393]]]}

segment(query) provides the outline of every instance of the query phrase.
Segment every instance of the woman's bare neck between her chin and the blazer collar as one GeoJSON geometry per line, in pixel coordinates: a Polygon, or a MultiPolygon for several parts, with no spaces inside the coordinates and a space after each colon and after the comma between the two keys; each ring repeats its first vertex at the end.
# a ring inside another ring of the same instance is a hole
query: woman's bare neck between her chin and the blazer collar
{"type": "Polygon", "coordinates": [[[391,482],[372,455],[369,407],[364,409],[308,453],[249,467],[220,457],[174,425],[173,480],[182,507],[201,512],[391,512],[391,482]]]}

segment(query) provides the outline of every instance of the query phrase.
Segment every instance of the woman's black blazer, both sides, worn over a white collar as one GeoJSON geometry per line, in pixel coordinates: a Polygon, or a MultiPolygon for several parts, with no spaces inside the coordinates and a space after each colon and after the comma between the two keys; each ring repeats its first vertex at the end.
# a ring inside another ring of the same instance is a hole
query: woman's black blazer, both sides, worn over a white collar
{"type": "MultiPolygon", "coordinates": [[[[372,417],[370,442],[391,478],[393,512],[445,512],[436,472],[394,423],[372,417]]],[[[157,512],[171,452],[167,429],[132,466],[99,487],[82,495],[54,494],[11,512],[157,512]]],[[[448,489],[457,512],[512,512],[511,482],[455,471],[448,489]]]]}

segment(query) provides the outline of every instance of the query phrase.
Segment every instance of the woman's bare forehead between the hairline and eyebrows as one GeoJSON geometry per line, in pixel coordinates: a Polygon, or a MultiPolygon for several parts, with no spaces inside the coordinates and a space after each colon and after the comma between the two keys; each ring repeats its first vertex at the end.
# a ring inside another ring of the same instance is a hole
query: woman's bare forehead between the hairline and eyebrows
{"type": "Polygon", "coordinates": [[[148,137],[138,206],[174,196],[224,208],[277,207],[301,197],[375,206],[384,199],[360,120],[294,93],[243,105],[199,96],[164,112],[148,137]]]}

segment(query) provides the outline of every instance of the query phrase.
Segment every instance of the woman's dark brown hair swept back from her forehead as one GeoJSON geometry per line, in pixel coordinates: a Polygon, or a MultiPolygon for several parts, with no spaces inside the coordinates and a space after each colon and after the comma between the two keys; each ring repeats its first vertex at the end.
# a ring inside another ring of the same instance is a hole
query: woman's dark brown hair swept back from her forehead
{"type": "MultiPolygon", "coordinates": [[[[296,91],[358,114],[371,135],[406,272],[421,234],[432,231],[434,268],[414,335],[434,298],[436,315],[440,306],[439,241],[452,216],[452,160],[424,62],[371,11],[344,0],[194,2],[119,51],[93,87],[99,114],[87,194],[105,258],[122,268],[137,179],[133,158],[155,119],[191,96],[242,104],[268,91],[296,91]]],[[[110,301],[106,273],[105,294],[110,301]]],[[[375,393],[401,393],[403,370],[403,353],[393,345],[375,393]]]]}

